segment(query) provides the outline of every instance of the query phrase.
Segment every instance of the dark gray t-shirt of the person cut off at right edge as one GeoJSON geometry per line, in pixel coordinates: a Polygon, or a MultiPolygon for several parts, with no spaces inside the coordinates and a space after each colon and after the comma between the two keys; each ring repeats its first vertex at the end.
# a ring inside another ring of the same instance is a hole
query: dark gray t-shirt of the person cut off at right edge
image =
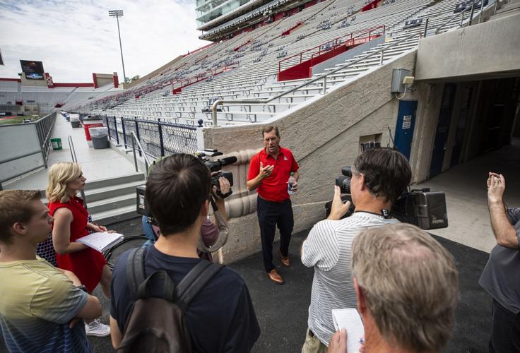
{"type": "MultiPolygon", "coordinates": [[[[507,218],[516,230],[520,244],[520,208],[508,208],[507,218]]],[[[478,284],[513,313],[520,312],[520,251],[497,245],[492,249],[488,263],[478,284]]]]}

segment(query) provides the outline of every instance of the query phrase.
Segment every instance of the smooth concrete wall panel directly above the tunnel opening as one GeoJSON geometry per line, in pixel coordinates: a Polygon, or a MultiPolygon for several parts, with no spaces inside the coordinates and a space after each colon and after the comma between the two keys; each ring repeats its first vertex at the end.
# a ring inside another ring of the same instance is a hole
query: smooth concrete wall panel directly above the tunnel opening
{"type": "Polygon", "coordinates": [[[520,15],[419,41],[416,80],[478,80],[520,73],[520,15]]]}

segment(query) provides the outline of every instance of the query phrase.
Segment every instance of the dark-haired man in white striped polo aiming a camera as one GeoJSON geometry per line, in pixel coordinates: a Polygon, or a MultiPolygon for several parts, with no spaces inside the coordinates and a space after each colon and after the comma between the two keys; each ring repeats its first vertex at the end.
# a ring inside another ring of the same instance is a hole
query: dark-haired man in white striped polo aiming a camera
{"type": "Polygon", "coordinates": [[[326,352],[335,331],[331,310],[356,307],[350,273],[353,240],[367,227],[399,222],[389,217],[389,211],[410,179],[408,160],[397,150],[365,150],[352,166],[350,194],[355,213],[343,220],[350,201],[343,203],[340,188],[335,186],[328,219],[312,227],[302,246],[302,263],[314,267],[309,328],[302,353],[326,352]]]}

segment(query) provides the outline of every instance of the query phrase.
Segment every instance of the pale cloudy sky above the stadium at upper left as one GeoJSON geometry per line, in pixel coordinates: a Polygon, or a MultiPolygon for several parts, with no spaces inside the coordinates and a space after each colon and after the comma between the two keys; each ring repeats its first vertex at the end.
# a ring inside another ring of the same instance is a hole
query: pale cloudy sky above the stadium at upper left
{"type": "Polygon", "coordinates": [[[20,59],[43,61],[57,83],[92,82],[92,73],[145,76],[209,42],[199,40],[194,0],[0,0],[1,78],[18,78],[20,59]]]}

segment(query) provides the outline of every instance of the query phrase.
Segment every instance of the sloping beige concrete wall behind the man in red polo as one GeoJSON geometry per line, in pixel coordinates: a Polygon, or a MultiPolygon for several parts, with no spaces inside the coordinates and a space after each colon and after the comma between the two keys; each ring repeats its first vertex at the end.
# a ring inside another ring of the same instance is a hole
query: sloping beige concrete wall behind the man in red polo
{"type": "MultiPolygon", "coordinates": [[[[387,126],[396,126],[398,100],[390,93],[393,68],[413,71],[415,52],[379,67],[352,83],[315,97],[309,104],[270,121],[280,128],[281,145],[290,148],[300,164],[298,192],[293,196],[294,232],[314,225],[325,217],[324,204],[333,196],[334,179],[341,167],[352,164],[359,151],[360,136],[382,135],[390,143],[387,126]]],[[[416,92],[405,99],[415,100],[416,92]]],[[[248,164],[243,158],[262,148],[261,126],[233,126],[204,129],[204,147],[218,148],[228,155],[242,155],[236,168],[235,193],[228,201],[230,238],[223,248],[223,261],[230,263],[261,249],[259,226],[254,212],[256,193],[244,191],[248,164]],[[242,215],[239,215],[242,205],[242,215]],[[244,205],[247,205],[245,207],[244,205]],[[251,205],[253,205],[251,207],[251,205]]],[[[412,157],[415,157],[415,151],[412,157]]],[[[235,173],[235,172],[234,172],[235,173]]]]}

